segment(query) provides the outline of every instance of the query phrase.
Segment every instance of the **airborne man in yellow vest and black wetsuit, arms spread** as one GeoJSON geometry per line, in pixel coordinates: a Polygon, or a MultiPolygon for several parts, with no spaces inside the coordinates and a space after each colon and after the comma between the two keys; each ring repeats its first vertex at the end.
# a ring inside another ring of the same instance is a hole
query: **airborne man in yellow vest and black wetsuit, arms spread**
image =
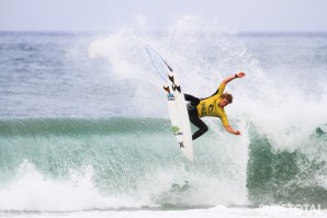
{"type": "Polygon", "coordinates": [[[228,124],[227,115],[224,108],[233,102],[233,95],[229,93],[224,93],[224,90],[228,82],[236,78],[243,77],[245,77],[245,73],[238,72],[235,76],[224,79],[217,91],[213,95],[205,99],[198,99],[190,94],[184,94],[185,100],[189,101],[188,112],[190,122],[199,128],[192,136],[193,140],[207,131],[206,124],[201,119],[204,116],[219,117],[222,119],[223,126],[228,133],[240,135],[239,130],[234,130],[228,124]]]}

